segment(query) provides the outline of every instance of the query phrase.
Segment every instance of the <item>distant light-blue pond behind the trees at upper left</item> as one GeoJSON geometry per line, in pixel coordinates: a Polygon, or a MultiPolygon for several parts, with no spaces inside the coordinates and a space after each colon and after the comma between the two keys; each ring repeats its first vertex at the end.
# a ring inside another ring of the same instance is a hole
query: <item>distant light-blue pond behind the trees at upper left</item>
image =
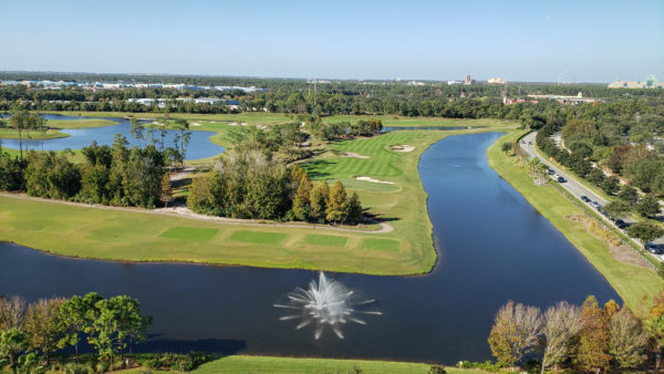
{"type": "MultiPolygon", "coordinates": [[[[141,142],[135,139],[132,134],[132,124],[129,121],[118,117],[81,117],[81,116],[66,116],[60,114],[44,114],[43,117],[45,120],[108,120],[113,121],[116,124],[104,126],[104,127],[90,127],[90,128],[71,128],[71,129],[61,129],[62,133],[69,134],[69,137],[61,137],[55,139],[29,139],[23,141],[23,146],[25,143],[28,144],[28,149],[38,149],[38,150],[64,150],[66,148],[70,149],[81,149],[83,147],[89,146],[92,142],[97,142],[98,145],[113,145],[113,139],[115,138],[115,134],[122,134],[127,138],[131,145],[145,145],[149,144],[149,141],[141,142]]],[[[152,120],[151,120],[152,121],[152,120]]],[[[148,123],[151,121],[142,121],[143,123],[148,123]]],[[[145,133],[147,133],[147,127],[145,128],[145,133]]],[[[166,129],[165,137],[163,139],[165,147],[174,146],[174,137],[178,134],[178,131],[166,129]]],[[[216,135],[212,132],[200,132],[193,131],[191,138],[189,139],[189,146],[187,147],[186,159],[198,159],[206,157],[214,157],[225,149],[222,146],[212,143],[209,138],[210,136],[216,135]]],[[[145,135],[147,137],[147,134],[145,135]]],[[[162,131],[155,129],[153,134],[153,138],[156,141],[155,146],[160,148],[162,146],[162,131]]],[[[19,141],[18,139],[2,139],[2,146],[8,148],[19,149],[19,141]]]]}

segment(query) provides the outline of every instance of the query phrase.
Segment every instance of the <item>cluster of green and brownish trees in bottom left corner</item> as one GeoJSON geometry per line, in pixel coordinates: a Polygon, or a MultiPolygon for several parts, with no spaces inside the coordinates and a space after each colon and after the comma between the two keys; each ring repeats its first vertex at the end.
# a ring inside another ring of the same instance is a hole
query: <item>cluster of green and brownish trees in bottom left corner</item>
{"type": "Polygon", "coordinates": [[[108,362],[145,339],[152,318],[142,314],[138,300],[127,295],[103,298],[95,292],[71,299],[0,297],[0,367],[31,373],[48,366],[53,355],[86,342],[96,360],[108,362]]]}

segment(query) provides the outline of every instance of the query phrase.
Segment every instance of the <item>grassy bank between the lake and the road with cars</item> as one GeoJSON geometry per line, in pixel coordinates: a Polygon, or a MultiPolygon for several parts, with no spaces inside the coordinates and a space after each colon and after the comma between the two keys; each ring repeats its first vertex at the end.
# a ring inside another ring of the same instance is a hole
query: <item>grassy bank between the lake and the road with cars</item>
{"type": "Polygon", "coordinates": [[[583,224],[566,219],[575,212],[583,214],[579,207],[552,186],[536,186],[527,169],[515,167],[513,158],[501,152],[500,146],[505,142],[515,142],[520,134],[510,133],[491,145],[487,150],[489,165],[579,249],[630,308],[637,308],[642,295],[652,298],[662,290],[664,280],[654,270],[615,260],[609,246],[589,233],[583,224]]]}

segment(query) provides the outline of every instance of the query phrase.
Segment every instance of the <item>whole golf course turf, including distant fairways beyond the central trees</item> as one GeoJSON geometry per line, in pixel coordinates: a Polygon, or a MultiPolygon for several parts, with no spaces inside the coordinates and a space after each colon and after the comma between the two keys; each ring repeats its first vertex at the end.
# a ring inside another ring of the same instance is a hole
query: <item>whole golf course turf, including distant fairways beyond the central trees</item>
{"type": "MultiPolygon", "coordinates": [[[[188,128],[214,132],[211,142],[232,147],[230,137],[237,137],[238,133],[268,132],[279,121],[287,120],[273,115],[198,115],[189,120],[188,128]]],[[[342,123],[380,121],[381,117],[334,116],[330,120],[342,123]]],[[[326,180],[332,188],[335,181],[341,181],[349,197],[356,193],[365,216],[359,225],[243,220],[191,212],[184,205],[191,178],[208,173],[216,158],[228,157],[222,153],[186,162],[186,172],[173,173],[175,202],[179,195],[179,206],[123,208],[2,194],[0,240],[68,257],[104,260],[199,262],[382,276],[426,273],[436,263],[437,254],[427,197],[417,170],[422,153],[450,135],[506,131],[516,124],[489,120],[385,120],[395,127],[467,129],[392,131],[318,142],[305,129],[303,136],[314,143],[305,145],[312,150],[311,155],[293,165],[305,170],[313,184],[326,180]]],[[[167,128],[174,128],[175,122],[168,121],[167,128]]],[[[49,123],[62,128],[75,128],[77,124],[83,127],[114,124],[106,120],[80,118],[49,123]]],[[[83,160],[76,156],[74,162],[83,160]]]]}

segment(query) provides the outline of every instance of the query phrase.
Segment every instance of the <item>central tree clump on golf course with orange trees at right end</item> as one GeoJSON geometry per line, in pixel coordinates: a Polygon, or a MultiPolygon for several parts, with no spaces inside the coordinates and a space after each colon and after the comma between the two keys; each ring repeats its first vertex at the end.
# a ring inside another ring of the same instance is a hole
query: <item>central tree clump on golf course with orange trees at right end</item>
{"type": "Polygon", "coordinates": [[[230,149],[215,169],[191,181],[187,206],[200,214],[272,220],[357,224],[362,205],[336,181],[312,185],[307,172],[260,150],[230,149]]]}

